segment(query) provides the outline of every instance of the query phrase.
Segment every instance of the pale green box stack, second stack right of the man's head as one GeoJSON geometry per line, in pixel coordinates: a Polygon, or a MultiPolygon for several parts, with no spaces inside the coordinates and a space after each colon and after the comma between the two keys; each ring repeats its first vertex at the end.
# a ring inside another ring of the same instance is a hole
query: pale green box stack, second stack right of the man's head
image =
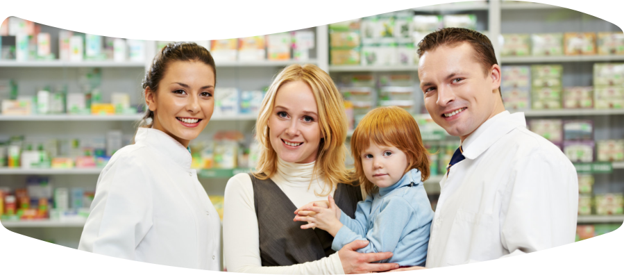
{"type": "Polygon", "coordinates": [[[562,65],[531,66],[531,108],[560,109],[562,107],[562,65]]]}

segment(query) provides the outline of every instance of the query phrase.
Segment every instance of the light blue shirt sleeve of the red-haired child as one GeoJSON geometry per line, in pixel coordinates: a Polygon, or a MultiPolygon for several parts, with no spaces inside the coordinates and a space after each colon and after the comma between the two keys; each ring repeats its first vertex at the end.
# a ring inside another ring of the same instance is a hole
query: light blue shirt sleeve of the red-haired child
{"type": "Polygon", "coordinates": [[[414,209],[410,203],[401,197],[394,197],[381,206],[380,213],[375,217],[375,224],[366,233],[366,238],[355,233],[348,226],[342,226],[332,242],[332,249],[338,251],[344,245],[355,240],[368,240],[369,244],[362,249],[357,249],[357,252],[394,251],[401,238],[401,233],[414,214],[414,209]]]}

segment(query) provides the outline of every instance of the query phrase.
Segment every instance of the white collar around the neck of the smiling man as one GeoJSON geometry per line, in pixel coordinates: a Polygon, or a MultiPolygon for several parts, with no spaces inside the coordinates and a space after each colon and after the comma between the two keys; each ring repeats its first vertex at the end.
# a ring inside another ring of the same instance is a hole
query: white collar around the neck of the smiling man
{"type": "Polygon", "coordinates": [[[524,113],[509,114],[509,111],[505,110],[487,119],[462,142],[463,155],[473,160],[491,147],[494,142],[502,138],[503,135],[509,133],[509,131],[517,127],[526,126],[524,113]]]}

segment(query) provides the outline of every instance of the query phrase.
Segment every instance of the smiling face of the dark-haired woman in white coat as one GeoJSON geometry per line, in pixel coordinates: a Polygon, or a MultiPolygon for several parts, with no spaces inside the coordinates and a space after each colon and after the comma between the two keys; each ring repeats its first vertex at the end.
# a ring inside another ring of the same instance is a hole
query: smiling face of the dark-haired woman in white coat
{"type": "Polygon", "coordinates": [[[199,61],[174,61],[167,65],[157,92],[146,92],[154,112],[153,128],[184,147],[197,138],[214,110],[214,72],[199,61]]]}

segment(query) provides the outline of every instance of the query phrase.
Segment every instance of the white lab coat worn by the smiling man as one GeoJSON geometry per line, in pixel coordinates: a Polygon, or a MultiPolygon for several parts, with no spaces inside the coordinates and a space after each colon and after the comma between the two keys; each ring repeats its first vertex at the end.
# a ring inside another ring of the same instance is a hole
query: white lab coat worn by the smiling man
{"type": "Polygon", "coordinates": [[[516,256],[575,240],[578,180],[561,149],[500,113],[464,140],[440,181],[426,267],[516,256]]]}

